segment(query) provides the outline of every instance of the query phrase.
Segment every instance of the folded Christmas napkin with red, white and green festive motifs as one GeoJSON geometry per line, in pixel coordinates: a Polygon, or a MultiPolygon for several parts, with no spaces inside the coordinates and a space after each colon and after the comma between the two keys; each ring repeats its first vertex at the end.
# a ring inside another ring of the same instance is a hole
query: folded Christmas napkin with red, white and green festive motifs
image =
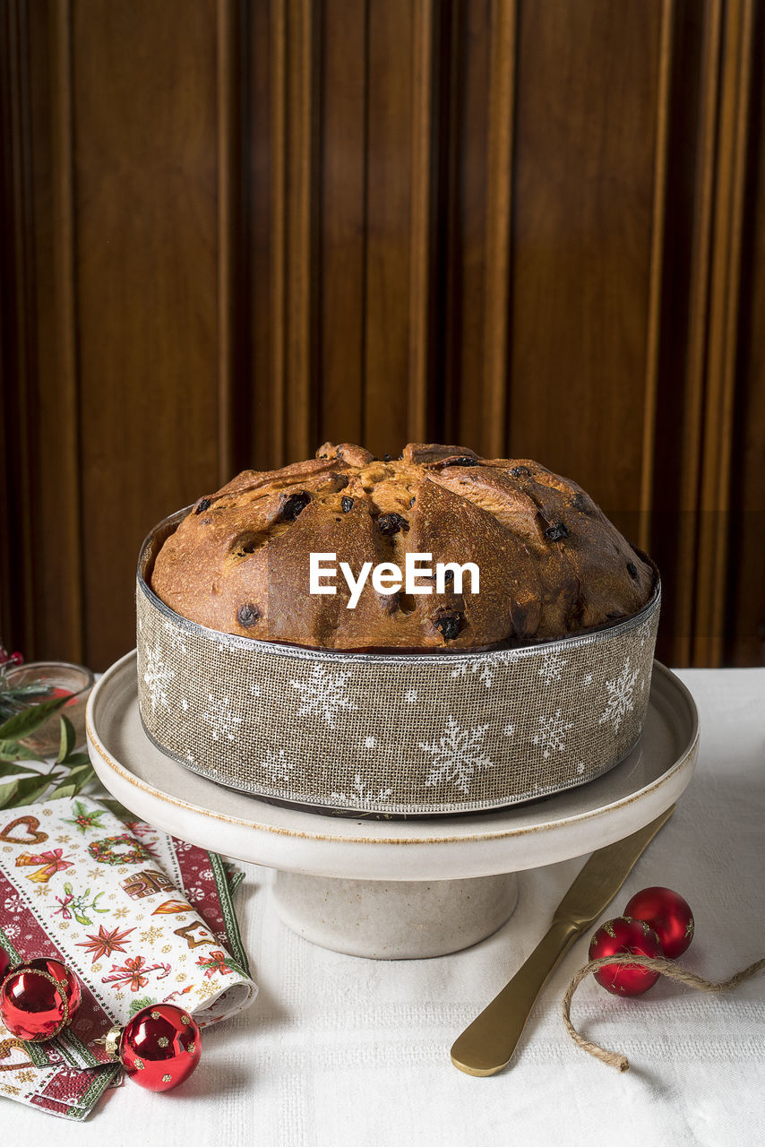
{"type": "Polygon", "coordinates": [[[0,1021],[0,1095],[73,1119],[115,1082],[115,1023],[175,1002],[204,1027],[258,990],[232,906],[242,874],[130,816],[83,796],[0,812],[0,946],[13,962],[62,960],[83,989],[47,1044],[16,1040],[0,1021]]]}

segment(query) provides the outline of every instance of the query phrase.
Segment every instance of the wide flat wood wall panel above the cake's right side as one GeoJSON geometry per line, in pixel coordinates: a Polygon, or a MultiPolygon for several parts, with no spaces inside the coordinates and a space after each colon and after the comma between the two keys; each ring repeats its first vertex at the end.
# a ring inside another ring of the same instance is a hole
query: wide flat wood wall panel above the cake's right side
{"type": "Polygon", "coordinates": [[[661,3],[518,11],[509,450],[576,477],[635,538],[661,3]]]}

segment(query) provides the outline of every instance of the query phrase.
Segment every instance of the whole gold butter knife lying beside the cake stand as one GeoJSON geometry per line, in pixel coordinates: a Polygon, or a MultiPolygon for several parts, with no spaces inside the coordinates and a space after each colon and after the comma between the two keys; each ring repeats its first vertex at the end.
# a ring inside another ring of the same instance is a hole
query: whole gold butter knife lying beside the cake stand
{"type": "Polygon", "coordinates": [[[593,852],[559,904],[547,935],[499,996],[454,1040],[452,1063],[455,1068],[468,1075],[486,1076],[507,1067],[551,973],[575,939],[604,912],[640,855],[673,812],[674,805],[671,805],[638,833],[593,852]]]}

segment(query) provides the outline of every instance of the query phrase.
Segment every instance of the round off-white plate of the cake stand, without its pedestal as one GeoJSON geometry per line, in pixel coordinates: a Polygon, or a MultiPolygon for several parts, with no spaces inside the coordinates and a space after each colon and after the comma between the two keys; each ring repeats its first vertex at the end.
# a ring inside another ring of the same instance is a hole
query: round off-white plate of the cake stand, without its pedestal
{"type": "MultiPolygon", "coordinates": [[[[655,770],[648,783],[615,802],[587,807],[586,799],[584,804],[579,801],[579,812],[552,820],[546,820],[545,813],[551,812],[551,805],[554,812],[567,794],[485,816],[369,821],[265,804],[255,796],[223,789],[211,780],[189,774],[149,741],[138,717],[135,650],[115,662],[96,682],[88,700],[86,727],[91,758],[104,786],[132,811],[166,832],[241,860],[288,872],[419,881],[534,868],[581,856],[647,825],[673,804],[689,782],[698,744],[693,697],[658,662],[654,663],[648,719],[663,723],[665,741],[674,740],[673,754],[669,744],[663,747],[666,759],[659,767],[665,767],[655,770]],[[110,738],[114,742],[116,728],[124,734],[126,743],[120,756],[125,759],[118,759],[108,744],[110,738]],[[139,762],[147,755],[165,781],[170,777],[166,790],[140,775],[139,762]],[[208,807],[184,798],[189,783],[197,795],[203,794],[208,807]],[[221,804],[229,811],[220,811],[221,804]]],[[[607,775],[623,767],[624,763],[607,775]]],[[[567,791],[594,796],[602,791],[602,787],[595,788],[599,785],[600,779],[567,791]]]]}

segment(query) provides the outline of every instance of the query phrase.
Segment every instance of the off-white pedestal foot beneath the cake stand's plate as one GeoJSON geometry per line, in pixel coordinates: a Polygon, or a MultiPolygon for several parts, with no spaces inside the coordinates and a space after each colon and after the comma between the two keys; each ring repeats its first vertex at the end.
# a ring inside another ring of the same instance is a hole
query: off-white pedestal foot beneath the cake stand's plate
{"type": "Polygon", "coordinates": [[[468,880],[339,880],[276,872],[279,915],[321,947],[373,960],[446,955],[491,936],[518,898],[515,873],[468,880]]]}

